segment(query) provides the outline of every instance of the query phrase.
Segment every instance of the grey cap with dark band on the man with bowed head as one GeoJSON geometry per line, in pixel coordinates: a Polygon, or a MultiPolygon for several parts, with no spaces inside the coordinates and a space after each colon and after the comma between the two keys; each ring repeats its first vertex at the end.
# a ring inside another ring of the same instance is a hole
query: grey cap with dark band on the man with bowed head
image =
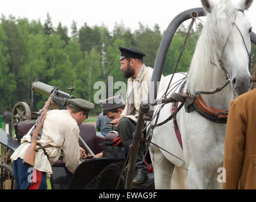
{"type": "Polygon", "coordinates": [[[103,111],[125,107],[125,101],[121,95],[109,97],[106,100],[101,100],[100,104],[103,111]]]}

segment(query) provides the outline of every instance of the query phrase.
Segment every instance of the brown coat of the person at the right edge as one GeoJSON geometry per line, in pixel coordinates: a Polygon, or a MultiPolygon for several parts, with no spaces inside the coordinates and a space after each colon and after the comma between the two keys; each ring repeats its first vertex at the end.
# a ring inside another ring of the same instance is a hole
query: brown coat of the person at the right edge
{"type": "Polygon", "coordinates": [[[256,88],[231,101],[223,189],[256,189],[256,88]]]}

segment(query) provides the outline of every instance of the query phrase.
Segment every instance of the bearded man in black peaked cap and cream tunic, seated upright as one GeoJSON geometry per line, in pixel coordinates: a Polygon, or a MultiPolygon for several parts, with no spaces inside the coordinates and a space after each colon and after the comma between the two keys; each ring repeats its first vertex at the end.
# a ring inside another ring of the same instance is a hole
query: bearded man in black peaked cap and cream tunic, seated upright
{"type": "MultiPolygon", "coordinates": [[[[128,79],[126,106],[121,116],[112,123],[118,123],[118,134],[127,154],[133,140],[140,104],[148,98],[153,69],[145,66],[143,61],[145,54],[140,50],[125,47],[119,47],[119,50],[121,51],[120,69],[128,79]]],[[[133,184],[142,184],[146,180],[147,166],[143,161],[142,146],[140,146],[133,184]]]]}

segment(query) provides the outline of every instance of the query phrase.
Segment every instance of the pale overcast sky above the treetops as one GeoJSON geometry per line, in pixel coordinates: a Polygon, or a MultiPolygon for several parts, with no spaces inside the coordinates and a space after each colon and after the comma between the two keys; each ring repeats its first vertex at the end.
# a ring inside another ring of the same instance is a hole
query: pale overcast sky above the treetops
{"type": "MultiPolygon", "coordinates": [[[[215,0],[217,1],[217,0],[215,0]]],[[[237,3],[240,0],[233,0],[237,3]]],[[[173,18],[190,8],[201,7],[200,0],[5,0],[1,2],[0,13],[15,18],[28,18],[44,23],[47,12],[54,27],[61,22],[70,31],[71,22],[79,29],[85,22],[90,27],[106,25],[109,31],[115,23],[121,23],[132,31],[138,29],[138,22],[153,28],[158,24],[161,31],[166,30],[173,18]]],[[[247,18],[256,27],[256,2],[253,3],[247,18]]]]}

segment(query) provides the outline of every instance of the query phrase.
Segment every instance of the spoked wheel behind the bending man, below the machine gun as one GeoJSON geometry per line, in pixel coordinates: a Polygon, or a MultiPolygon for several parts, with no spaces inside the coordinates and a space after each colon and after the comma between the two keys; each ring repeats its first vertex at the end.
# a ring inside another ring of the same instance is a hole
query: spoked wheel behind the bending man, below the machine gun
{"type": "Polygon", "coordinates": [[[30,108],[26,102],[17,102],[13,107],[11,122],[15,126],[17,122],[25,120],[31,120],[30,108]]]}

